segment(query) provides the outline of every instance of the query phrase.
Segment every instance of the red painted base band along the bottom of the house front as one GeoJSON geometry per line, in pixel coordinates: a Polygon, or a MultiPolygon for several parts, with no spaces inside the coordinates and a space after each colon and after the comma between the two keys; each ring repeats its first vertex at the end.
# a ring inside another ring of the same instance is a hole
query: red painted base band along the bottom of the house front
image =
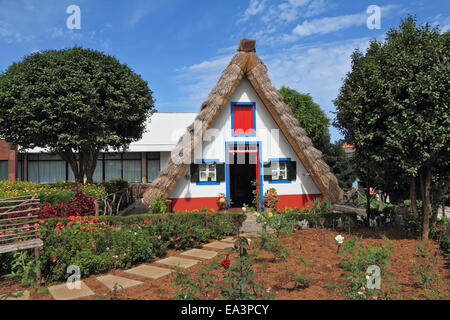
{"type": "MultiPolygon", "coordinates": [[[[280,210],[284,208],[294,209],[295,207],[302,209],[310,206],[314,199],[321,197],[321,194],[278,195],[277,208],[280,210]]],[[[172,200],[172,207],[174,211],[192,211],[194,209],[201,210],[202,207],[219,210],[219,206],[217,205],[217,197],[171,198],[170,200],[172,200]]]]}

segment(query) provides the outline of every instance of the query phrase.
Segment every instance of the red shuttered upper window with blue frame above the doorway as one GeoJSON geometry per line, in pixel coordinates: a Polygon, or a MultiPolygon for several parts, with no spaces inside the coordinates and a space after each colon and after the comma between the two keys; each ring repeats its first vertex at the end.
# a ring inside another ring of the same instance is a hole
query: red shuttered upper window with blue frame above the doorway
{"type": "Polygon", "coordinates": [[[231,103],[231,132],[234,137],[256,135],[255,103],[231,103]]]}

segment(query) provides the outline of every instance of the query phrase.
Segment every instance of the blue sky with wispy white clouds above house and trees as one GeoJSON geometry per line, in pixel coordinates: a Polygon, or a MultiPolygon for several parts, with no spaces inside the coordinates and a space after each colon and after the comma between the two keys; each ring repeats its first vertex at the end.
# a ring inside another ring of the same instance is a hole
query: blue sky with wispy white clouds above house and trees
{"type": "Polygon", "coordinates": [[[356,48],[383,39],[408,13],[448,30],[449,9],[445,0],[0,0],[0,70],[38,50],[81,45],[133,68],[158,111],[197,112],[239,39],[254,38],[275,87],[310,93],[333,118],[356,48]],[[72,4],[79,30],[66,27],[72,4]],[[370,5],[381,8],[380,29],[366,25],[370,5]]]}

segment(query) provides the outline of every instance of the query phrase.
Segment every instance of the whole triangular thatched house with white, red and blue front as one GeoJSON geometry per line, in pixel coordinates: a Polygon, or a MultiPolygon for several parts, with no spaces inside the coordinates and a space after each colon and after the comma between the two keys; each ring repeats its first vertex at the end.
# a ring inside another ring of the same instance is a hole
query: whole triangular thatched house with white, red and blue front
{"type": "Polygon", "coordinates": [[[321,156],[272,86],[255,40],[242,39],[144,202],[161,195],[174,210],[217,210],[221,193],[242,207],[255,188],[259,201],[275,188],[280,209],[336,201],[343,191],[321,156]]]}

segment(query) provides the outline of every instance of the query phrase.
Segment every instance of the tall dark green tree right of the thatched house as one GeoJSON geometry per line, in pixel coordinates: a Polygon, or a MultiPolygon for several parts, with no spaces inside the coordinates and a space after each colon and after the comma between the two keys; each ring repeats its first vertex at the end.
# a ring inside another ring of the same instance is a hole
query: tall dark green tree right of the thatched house
{"type": "Polygon", "coordinates": [[[366,54],[352,54],[352,70],[334,101],[335,125],[356,152],[407,178],[416,216],[419,181],[423,239],[429,237],[432,182],[443,185],[450,172],[449,44],[449,32],[418,26],[408,16],[384,42],[372,40],[366,54]]]}

